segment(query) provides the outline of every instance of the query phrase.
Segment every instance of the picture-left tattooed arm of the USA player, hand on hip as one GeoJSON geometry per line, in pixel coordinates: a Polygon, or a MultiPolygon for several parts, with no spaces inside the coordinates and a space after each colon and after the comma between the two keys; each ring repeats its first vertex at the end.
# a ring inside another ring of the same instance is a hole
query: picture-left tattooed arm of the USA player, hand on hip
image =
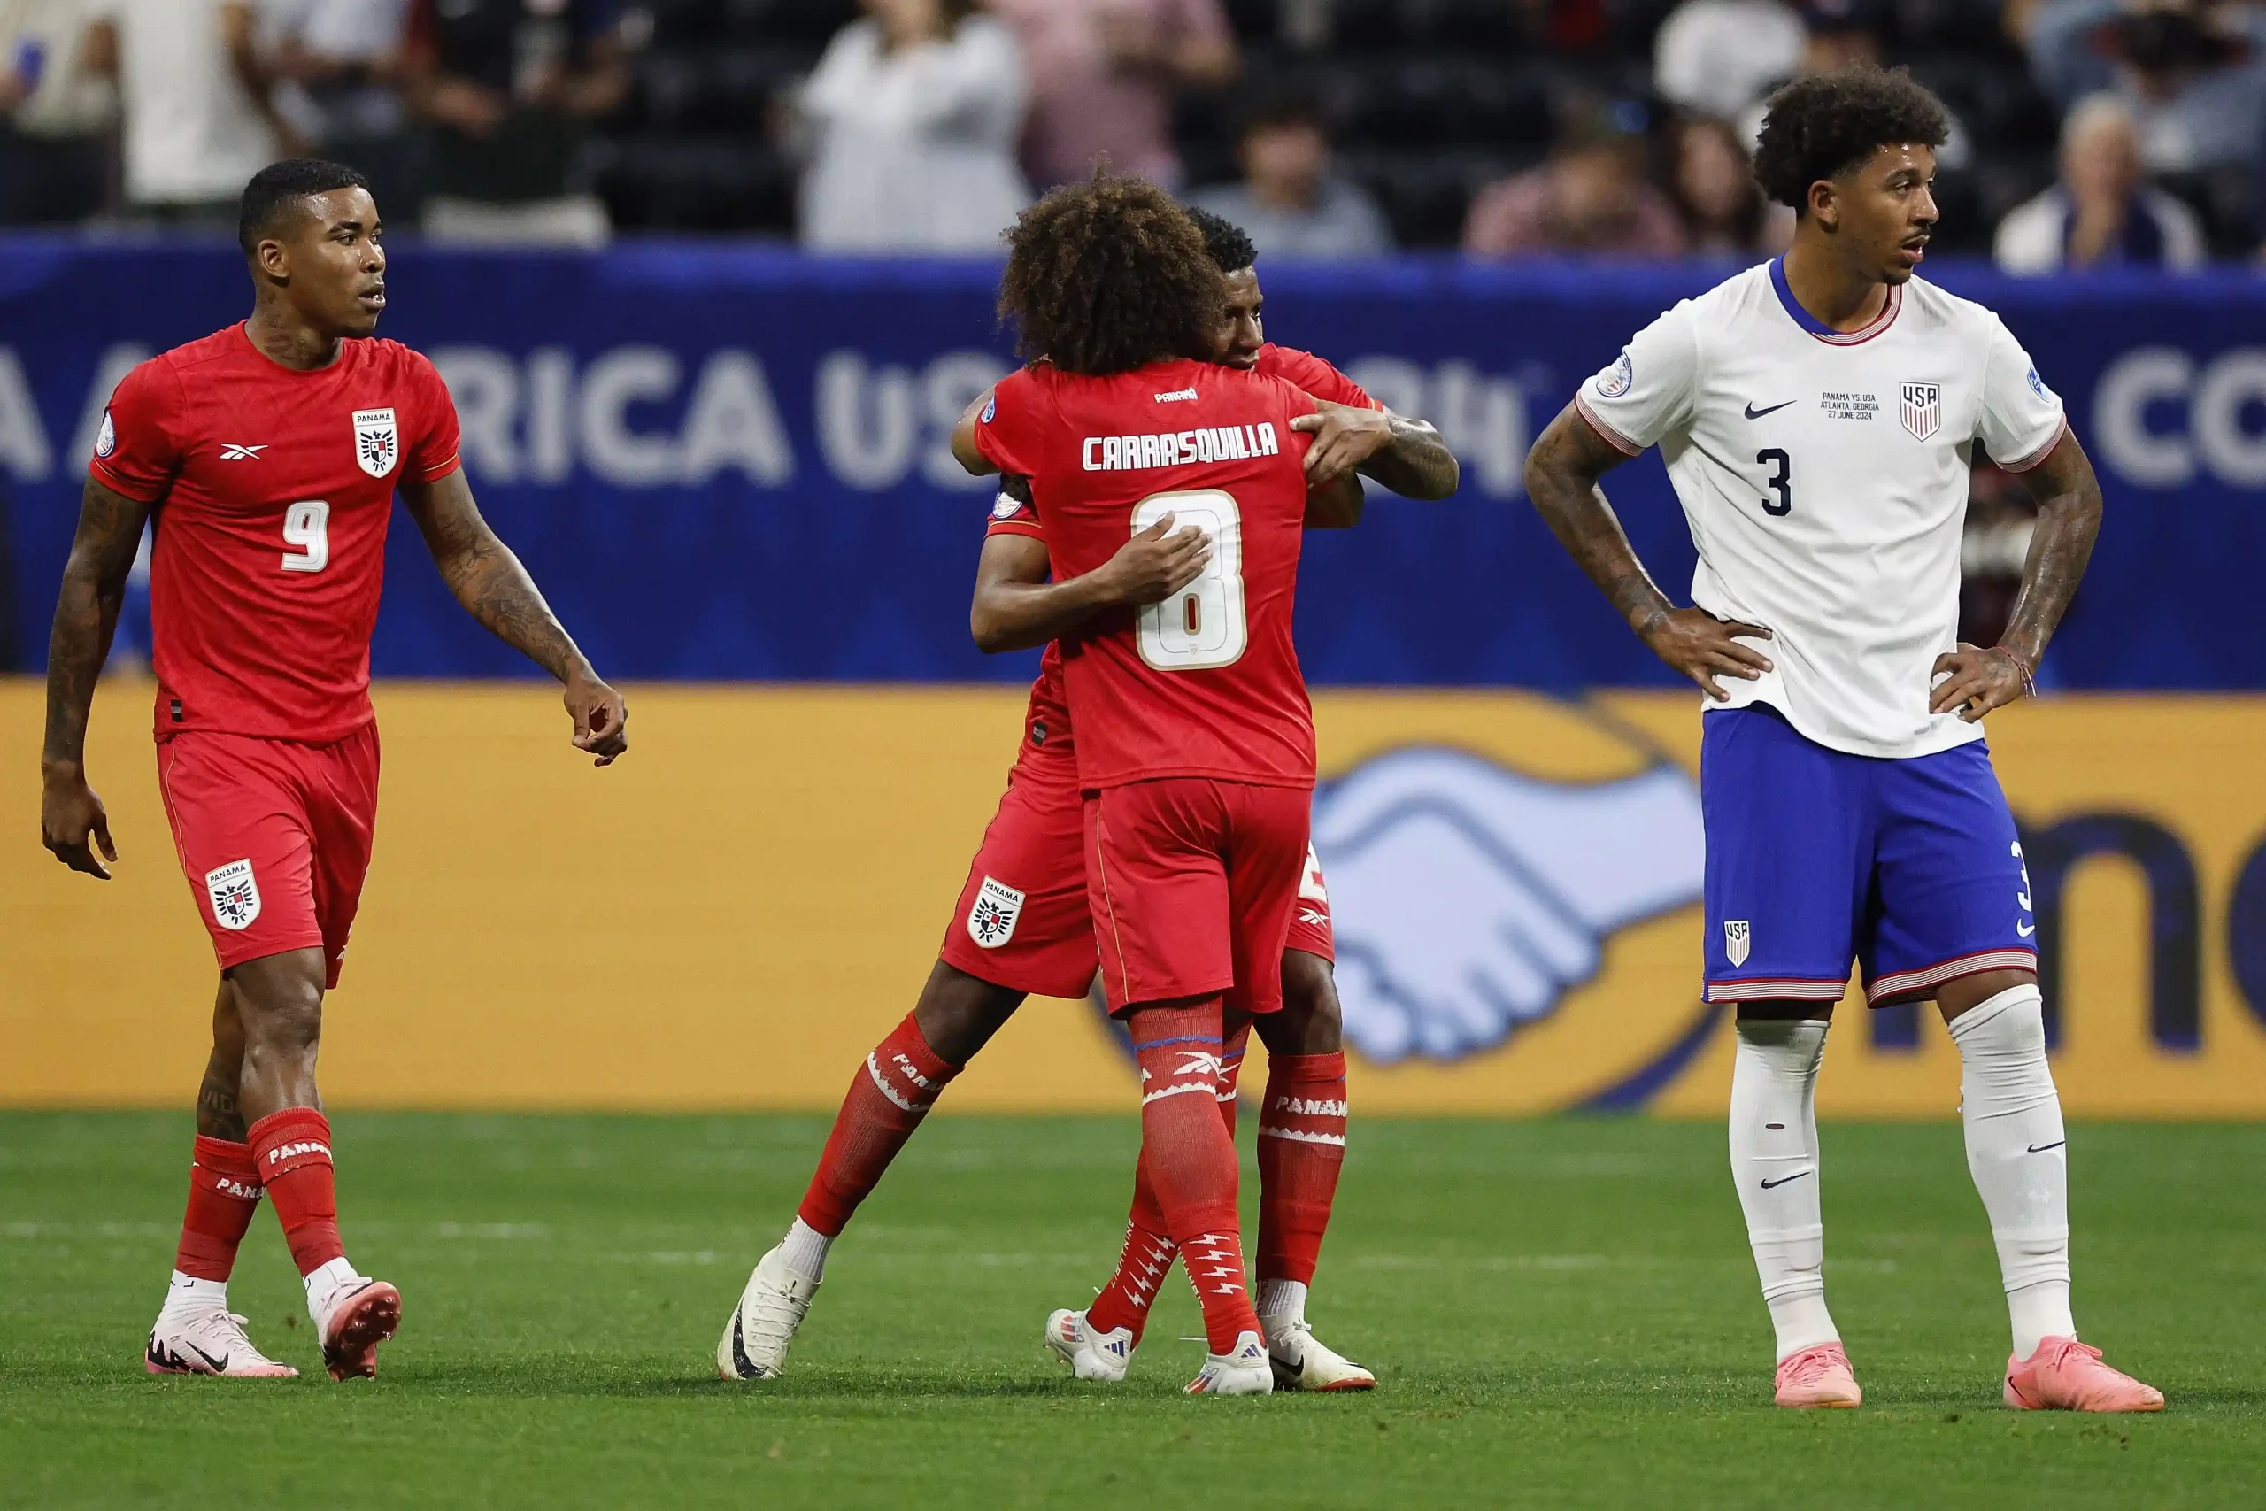
{"type": "Polygon", "coordinates": [[[1604,501],[1598,478],[1629,460],[1607,444],[1573,406],[1559,412],[1527,453],[1527,498],[1559,537],[1559,544],[1588,573],[1588,580],[1613,600],[1636,637],[1679,673],[1700,684],[1709,698],[1731,693],[1718,675],[1756,680],[1770,671],[1770,659],[1743,646],[1740,639],[1770,639],[1763,625],[1715,618],[1706,609],[1679,609],[1645,575],[1629,537],[1604,501]]]}

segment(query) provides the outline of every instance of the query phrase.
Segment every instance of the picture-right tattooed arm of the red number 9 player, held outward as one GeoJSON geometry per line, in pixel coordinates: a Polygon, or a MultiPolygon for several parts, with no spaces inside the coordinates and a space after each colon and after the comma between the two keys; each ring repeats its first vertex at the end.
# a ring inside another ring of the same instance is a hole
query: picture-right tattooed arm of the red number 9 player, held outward
{"type": "Polygon", "coordinates": [[[424,532],[426,550],[455,600],[496,639],[566,684],[576,750],[589,750],[598,766],[612,766],[630,748],[630,709],[551,614],[512,548],[480,519],[465,469],[440,483],[403,483],[401,503],[424,532]]]}

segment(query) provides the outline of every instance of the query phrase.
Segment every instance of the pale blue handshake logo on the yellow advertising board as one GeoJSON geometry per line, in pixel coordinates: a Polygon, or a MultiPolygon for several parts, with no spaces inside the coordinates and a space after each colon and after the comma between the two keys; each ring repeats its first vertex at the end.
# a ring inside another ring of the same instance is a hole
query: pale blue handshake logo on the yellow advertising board
{"type": "Polygon", "coordinates": [[[1459,1060],[1548,1017],[1604,940],[1700,902],[1700,791],[1675,766],[1543,782],[1409,748],[1314,793],[1346,1042],[1459,1060]]]}

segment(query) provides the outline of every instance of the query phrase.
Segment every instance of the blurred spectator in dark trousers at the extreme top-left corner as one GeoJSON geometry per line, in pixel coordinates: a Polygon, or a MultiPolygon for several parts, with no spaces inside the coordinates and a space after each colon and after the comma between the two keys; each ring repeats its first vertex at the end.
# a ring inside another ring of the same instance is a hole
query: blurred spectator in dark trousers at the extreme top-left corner
{"type": "Polygon", "coordinates": [[[116,32],[84,0],[0,0],[0,224],[88,220],[109,188],[116,32]]]}

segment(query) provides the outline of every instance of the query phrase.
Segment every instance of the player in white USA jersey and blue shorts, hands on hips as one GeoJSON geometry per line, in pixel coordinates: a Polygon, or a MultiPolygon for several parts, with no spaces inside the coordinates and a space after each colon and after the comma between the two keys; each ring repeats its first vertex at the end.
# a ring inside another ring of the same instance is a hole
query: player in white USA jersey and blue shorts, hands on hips
{"type": "Polygon", "coordinates": [[[1983,306],[1919,281],[1944,106],[1860,68],[1770,102],[1756,177],[1797,213],[1779,263],[1679,304],[1582,385],[1527,494],[1704,716],[1706,997],[1738,1004],[1731,1173],[1777,1328],[1777,1400],[1863,1400],[1824,1300],[1817,1065],[1856,958],[1872,1006],[1935,999],[1967,1169],[2012,1321],[2010,1407],[2157,1411],[2069,1314],[2062,1103],[2037,929],[1983,716],[2037,661],[2101,528],[2062,401],[1983,306]],[[1969,451],[2037,501],[1999,646],[1956,639],[1969,451]],[[1700,569],[1675,607],[1598,478],[1661,446],[1700,569]],[[1727,682],[1720,682],[1727,677],[1727,682]]]}

